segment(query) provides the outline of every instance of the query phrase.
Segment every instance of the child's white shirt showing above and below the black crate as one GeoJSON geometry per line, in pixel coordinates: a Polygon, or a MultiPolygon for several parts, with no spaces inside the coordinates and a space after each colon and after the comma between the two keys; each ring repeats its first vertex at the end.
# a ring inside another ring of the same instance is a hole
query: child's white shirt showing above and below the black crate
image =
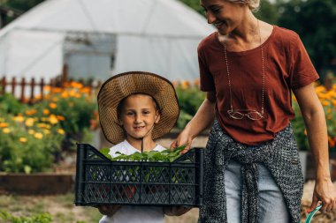
{"type": "MultiPolygon", "coordinates": [[[[164,151],[162,145],[157,145],[154,151],[164,151]]],[[[126,140],[114,145],[110,148],[109,154],[111,157],[116,157],[121,152],[126,155],[139,152],[126,140]]],[[[164,211],[162,207],[149,207],[149,206],[122,206],[118,212],[109,217],[104,215],[99,223],[164,223],[164,211]]]]}

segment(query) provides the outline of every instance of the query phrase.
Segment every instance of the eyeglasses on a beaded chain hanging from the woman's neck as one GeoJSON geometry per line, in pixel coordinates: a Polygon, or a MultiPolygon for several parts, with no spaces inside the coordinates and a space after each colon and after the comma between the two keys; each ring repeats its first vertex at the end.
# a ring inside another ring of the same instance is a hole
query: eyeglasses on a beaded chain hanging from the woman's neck
{"type": "Polygon", "coordinates": [[[227,78],[229,80],[229,92],[230,92],[230,110],[227,111],[227,114],[233,119],[242,119],[244,116],[247,116],[251,120],[260,120],[263,118],[263,98],[264,98],[264,84],[265,84],[265,75],[264,75],[264,65],[263,65],[263,45],[262,45],[262,36],[260,33],[260,26],[259,26],[259,19],[257,19],[257,27],[259,30],[259,41],[260,41],[260,48],[262,54],[262,71],[263,71],[263,90],[262,90],[262,108],[261,112],[256,111],[255,109],[233,109],[233,96],[231,91],[231,79],[230,79],[230,70],[229,70],[229,63],[227,62],[227,55],[226,55],[226,43],[225,39],[223,41],[224,46],[224,53],[225,53],[225,64],[226,64],[226,72],[227,78]]]}

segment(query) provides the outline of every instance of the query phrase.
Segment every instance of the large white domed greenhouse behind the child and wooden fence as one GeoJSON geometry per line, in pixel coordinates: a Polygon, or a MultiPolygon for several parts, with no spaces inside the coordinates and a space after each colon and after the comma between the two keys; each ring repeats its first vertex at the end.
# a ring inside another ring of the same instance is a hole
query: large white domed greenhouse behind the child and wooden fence
{"type": "Polygon", "coordinates": [[[177,0],[48,0],[0,30],[0,76],[104,80],[150,71],[198,78],[196,48],[214,32],[177,0]]]}

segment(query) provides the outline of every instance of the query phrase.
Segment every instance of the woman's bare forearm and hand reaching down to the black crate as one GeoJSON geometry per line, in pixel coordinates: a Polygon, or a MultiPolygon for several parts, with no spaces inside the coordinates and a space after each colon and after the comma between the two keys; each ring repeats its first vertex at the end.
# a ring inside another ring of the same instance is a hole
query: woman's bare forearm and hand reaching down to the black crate
{"type": "Polygon", "coordinates": [[[179,133],[179,137],[172,143],[171,147],[187,145],[182,153],[185,153],[190,149],[193,139],[213,122],[215,118],[215,102],[216,93],[208,92],[207,98],[202,102],[200,108],[198,108],[196,115],[189,123],[187,123],[185,129],[179,133]]]}

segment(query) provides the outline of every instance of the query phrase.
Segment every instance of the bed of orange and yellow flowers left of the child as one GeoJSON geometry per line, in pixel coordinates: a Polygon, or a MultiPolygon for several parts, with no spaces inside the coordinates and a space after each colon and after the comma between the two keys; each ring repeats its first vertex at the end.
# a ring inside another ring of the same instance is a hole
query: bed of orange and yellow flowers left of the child
{"type": "Polygon", "coordinates": [[[95,118],[89,89],[70,82],[44,90],[44,99],[34,105],[20,103],[9,93],[0,96],[0,172],[48,171],[62,159],[63,150],[88,135],[95,118]]]}

